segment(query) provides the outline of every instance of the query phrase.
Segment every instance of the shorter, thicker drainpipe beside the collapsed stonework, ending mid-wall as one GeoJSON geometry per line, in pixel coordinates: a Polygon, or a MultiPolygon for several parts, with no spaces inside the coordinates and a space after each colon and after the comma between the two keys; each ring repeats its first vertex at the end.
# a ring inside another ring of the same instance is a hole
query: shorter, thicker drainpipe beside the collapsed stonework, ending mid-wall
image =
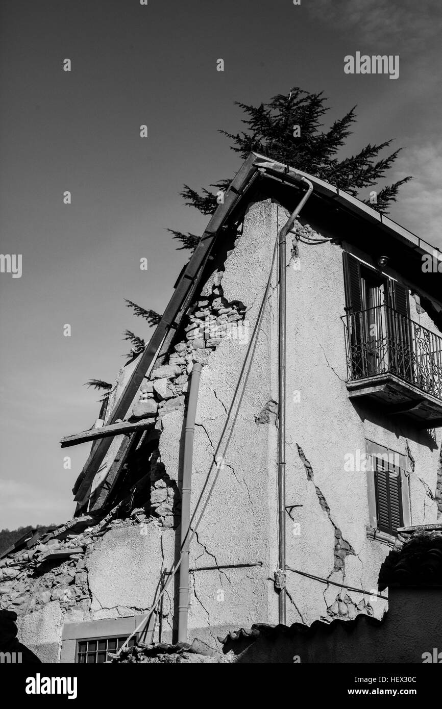
{"type": "Polygon", "coordinates": [[[181,489],[181,564],[179,566],[178,592],[178,642],[187,642],[187,616],[189,613],[189,540],[190,540],[190,496],[192,493],[192,462],[194,453],[195,417],[201,364],[196,362],[192,369],[187,403],[186,427],[184,430],[184,456],[181,489]]]}

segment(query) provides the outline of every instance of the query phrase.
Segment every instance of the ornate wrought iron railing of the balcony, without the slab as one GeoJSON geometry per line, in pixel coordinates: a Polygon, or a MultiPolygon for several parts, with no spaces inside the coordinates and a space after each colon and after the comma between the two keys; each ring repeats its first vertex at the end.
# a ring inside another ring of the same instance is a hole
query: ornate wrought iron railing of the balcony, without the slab
{"type": "Polygon", "coordinates": [[[394,374],[442,400],[442,337],[382,305],[343,316],[348,381],[394,374]]]}

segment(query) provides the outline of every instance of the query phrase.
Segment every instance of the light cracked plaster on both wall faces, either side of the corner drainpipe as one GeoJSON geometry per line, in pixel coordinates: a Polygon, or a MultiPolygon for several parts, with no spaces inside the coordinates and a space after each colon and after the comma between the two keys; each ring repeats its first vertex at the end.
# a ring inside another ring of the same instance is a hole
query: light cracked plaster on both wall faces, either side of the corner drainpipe
{"type": "MultiPolygon", "coordinates": [[[[245,304],[250,333],[265,290],[277,230],[286,219],[287,212],[275,203],[253,205],[245,216],[243,235],[226,260],[221,281],[214,281],[221,282],[228,301],[245,304]]],[[[302,228],[299,223],[296,227],[302,228]]],[[[429,447],[426,432],[416,434],[406,420],[392,421],[382,411],[373,415],[363,406],[353,406],[345,384],[341,247],[330,242],[311,246],[297,240],[294,245],[296,261],[287,248],[287,565],[370,593],[348,591],[287,571],[287,624],[301,621],[310,625],[314,620],[337,616],[351,619],[358,613],[381,618],[386,602],[371,592],[377,590],[380,565],[389,547],[368,538],[367,476],[345,471],[345,455],[364,452],[366,438],[407,455],[411,522],[434,522],[437,506],[431,496],[436,491],[440,432],[429,447]]],[[[276,285],[273,277],[241,413],[199,527],[198,542],[192,545],[190,564],[259,560],[263,566],[192,575],[189,627],[201,632],[210,625],[212,637],[219,634],[220,627],[245,627],[249,618],[255,623],[277,623],[277,595],[272,584],[277,567],[277,428],[275,417],[266,413],[269,403],[271,411],[271,402],[277,400],[276,285]],[[223,601],[219,601],[220,591],[223,601]]],[[[211,287],[209,283],[208,291],[211,287]]],[[[411,299],[411,308],[413,303],[411,299]]],[[[415,314],[411,310],[411,317],[415,314]]],[[[419,317],[429,327],[426,313],[419,317]]],[[[193,503],[214,459],[245,350],[243,343],[222,340],[203,368],[193,503]]],[[[175,419],[169,415],[163,424],[160,450],[170,471],[177,466],[173,441],[181,430],[182,414],[175,413],[175,419]]]]}

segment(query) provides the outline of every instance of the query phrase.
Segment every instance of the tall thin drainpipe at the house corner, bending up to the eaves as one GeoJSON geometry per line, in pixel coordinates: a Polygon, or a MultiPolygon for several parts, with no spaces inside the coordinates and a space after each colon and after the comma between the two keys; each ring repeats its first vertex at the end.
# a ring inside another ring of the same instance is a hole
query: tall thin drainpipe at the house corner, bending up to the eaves
{"type": "Polygon", "coordinates": [[[286,237],[291,230],[294,220],[313,191],[311,182],[300,175],[296,176],[297,182],[304,182],[308,186],[306,194],[299,202],[287,223],[282,226],[278,239],[280,252],[280,297],[279,297],[279,322],[278,322],[278,568],[275,573],[275,586],[278,591],[278,619],[285,625],[285,359],[286,359],[286,268],[287,268],[287,241],[286,237]]]}

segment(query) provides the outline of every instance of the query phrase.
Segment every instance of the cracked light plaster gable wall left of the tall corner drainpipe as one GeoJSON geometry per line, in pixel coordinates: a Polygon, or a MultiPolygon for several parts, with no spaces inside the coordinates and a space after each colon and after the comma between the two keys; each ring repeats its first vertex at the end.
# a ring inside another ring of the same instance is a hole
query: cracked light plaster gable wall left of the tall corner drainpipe
{"type": "MultiPolygon", "coordinates": [[[[270,203],[250,210],[245,218],[248,235],[243,234],[230,253],[225,263],[226,271],[222,274],[223,296],[229,302],[245,303],[245,320],[250,333],[270,269],[276,238],[275,214],[276,206],[270,203]]],[[[211,279],[205,289],[208,292],[203,290],[202,295],[209,295],[218,281],[211,279]]],[[[275,276],[272,286],[276,286],[275,276]]],[[[269,366],[273,327],[274,312],[269,309],[263,320],[233,436],[226,457],[219,461],[219,478],[191,547],[191,568],[260,564],[191,574],[189,629],[198,630],[199,637],[212,642],[222,628],[228,629],[232,623],[251,624],[277,618],[277,598],[272,583],[276,559],[271,544],[276,535],[273,495],[276,429],[274,423],[271,428],[267,425],[265,431],[255,423],[255,415],[267,401],[275,398],[275,368],[269,366]]],[[[192,508],[214,462],[247,349],[247,342],[225,338],[202,369],[194,436],[192,508]]],[[[182,412],[174,412],[162,420],[160,453],[171,477],[172,470],[178,469],[177,440],[182,423],[182,412]]],[[[219,456],[222,452],[223,447],[219,456]]],[[[211,479],[215,472],[214,466],[211,479]]],[[[201,498],[201,506],[206,493],[207,489],[201,498]]]]}

